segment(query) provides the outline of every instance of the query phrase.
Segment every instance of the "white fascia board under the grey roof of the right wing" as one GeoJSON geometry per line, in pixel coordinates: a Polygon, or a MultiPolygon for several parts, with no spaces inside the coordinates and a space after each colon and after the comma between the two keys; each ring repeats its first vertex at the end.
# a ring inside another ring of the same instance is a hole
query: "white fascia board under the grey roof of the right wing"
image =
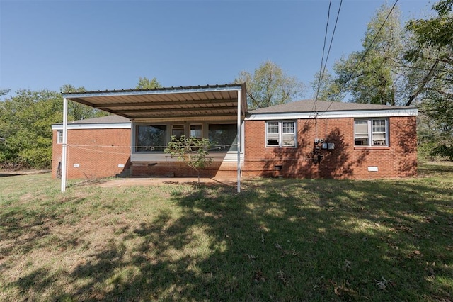
{"type": "Polygon", "coordinates": [[[269,120],[297,120],[308,118],[381,118],[396,116],[418,116],[418,109],[390,109],[390,110],[363,110],[363,111],[329,111],[323,113],[314,112],[289,112],[289,113],[252,113],[246,121],[269,121],[269,120]]]}

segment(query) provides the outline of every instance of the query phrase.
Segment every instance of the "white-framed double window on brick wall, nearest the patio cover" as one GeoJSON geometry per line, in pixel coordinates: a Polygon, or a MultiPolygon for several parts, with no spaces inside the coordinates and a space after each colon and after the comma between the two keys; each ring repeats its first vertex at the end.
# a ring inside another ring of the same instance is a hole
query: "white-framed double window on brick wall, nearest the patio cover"
{"type": "Polygon", "coordinates": [[[266,147],[296,147],[296,122],[267,122],[266,147]]]}

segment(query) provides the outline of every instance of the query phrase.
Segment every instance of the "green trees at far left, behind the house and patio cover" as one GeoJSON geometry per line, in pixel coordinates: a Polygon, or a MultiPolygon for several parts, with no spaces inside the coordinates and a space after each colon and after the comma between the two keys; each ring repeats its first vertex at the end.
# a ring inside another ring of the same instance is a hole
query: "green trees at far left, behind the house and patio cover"
{"type": "MultiPolygon", "coordinates": [[[[62,91],[84,91],[64,85],[62,91]]],[[[88,106],[68,103],[68,120],[105,115],[88,106]]],[[[20,167],[44,169],[52,161],[52,124],[62,123],[63,98],[57,91],[21,89],[15,96],[0,101],[0,162],[20,167]]]]}

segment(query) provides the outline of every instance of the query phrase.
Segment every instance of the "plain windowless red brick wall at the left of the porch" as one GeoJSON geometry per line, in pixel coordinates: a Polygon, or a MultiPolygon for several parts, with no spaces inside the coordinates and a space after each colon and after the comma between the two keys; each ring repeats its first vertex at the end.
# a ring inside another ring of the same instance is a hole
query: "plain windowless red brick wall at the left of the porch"
{"type": "MultiPolygon", "coordinates": [[[[130,167],[130,129],[68,130],[68,178],[112,177],[130,167]],[[79,164],[79,167],[74,167],[79,164]],[[118,167],[124,164],[124,168],[118,167]]],[[[53,131],[52,177],[62,160],[62,145],[53,131]]]]}

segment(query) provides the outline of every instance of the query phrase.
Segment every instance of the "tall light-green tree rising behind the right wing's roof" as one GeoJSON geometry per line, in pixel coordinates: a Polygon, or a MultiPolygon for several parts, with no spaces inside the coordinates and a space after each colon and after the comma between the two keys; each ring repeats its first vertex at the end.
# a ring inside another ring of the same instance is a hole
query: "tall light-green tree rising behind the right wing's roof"
{"type": "Polygon", "coordinates": [[[336,86],[350,94],[350,101],[398,104],[396,82],[401,70],[396,58],[401,53],[402,39],[398,8],[391,11],[391,7],[384,4],[368,23],[362,40],[363,50],[352,52],[335,63],[336,86]]]}

